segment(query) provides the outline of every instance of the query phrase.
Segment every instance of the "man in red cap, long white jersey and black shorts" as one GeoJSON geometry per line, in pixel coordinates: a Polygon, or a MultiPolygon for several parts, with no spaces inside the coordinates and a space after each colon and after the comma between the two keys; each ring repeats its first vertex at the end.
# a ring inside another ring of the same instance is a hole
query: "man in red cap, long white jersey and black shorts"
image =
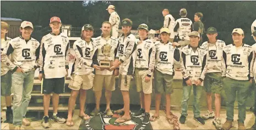
{"type": "Polygon", "coordinates": [[[58,114],[59,94],[64,92],[65,78],[68,76],[67,52],[69,39],[66,34],[61,33],[61,19],[53,16],[50,19],[52,32],[42,37],[40,49],[40,74],[43,93],[43,121],[42,127],[49,128],[50,121],[48,110],[50,107],[51,93],[53,104],[53,116],[51,120],[59,123],[66,122],[66,119],[58,114]]]}

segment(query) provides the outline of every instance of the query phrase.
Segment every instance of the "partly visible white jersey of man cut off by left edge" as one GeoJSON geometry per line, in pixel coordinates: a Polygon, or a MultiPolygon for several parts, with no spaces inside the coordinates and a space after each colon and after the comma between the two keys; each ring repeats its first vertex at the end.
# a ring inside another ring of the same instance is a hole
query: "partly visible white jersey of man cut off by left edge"
{"type": "MultiPolygon", "coordinates": [[[[1,39],[1,54],[3,49],[8,47],[10,40],[11,38],[9,37],[4,38],[3,41],[1,39]]],[[[8,56],[8,58],[10,59],[10,55],[8,56]]],[[[9,70],[10,68],[1,61],[1,76],[6,75],[9,70]]]]}

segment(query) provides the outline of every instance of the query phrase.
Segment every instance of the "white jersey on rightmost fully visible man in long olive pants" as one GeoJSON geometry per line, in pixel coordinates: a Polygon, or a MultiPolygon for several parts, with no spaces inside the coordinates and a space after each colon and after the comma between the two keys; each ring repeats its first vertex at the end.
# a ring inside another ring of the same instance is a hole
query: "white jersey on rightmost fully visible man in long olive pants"
{"type": "Polygon", "coordinates": [[[243,81],[253,78],[254,53],[252,47],[244,43],[241,47],[229,44],[224,47],[223,58],[226,64],[226,77],[243,81]]]}

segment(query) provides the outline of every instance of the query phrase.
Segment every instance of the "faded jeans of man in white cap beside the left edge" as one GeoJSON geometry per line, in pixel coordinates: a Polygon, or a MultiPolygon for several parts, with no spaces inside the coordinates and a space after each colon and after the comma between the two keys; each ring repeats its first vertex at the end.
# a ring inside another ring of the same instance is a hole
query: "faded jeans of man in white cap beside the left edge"
{"type": "Polygon", "coordinates": [[[26,115],[31,92],[34,85],[35,71],[18,73],[14,72],[12,75],[13,95],[13,125],[21,126],[22,119],[26,115]]]}

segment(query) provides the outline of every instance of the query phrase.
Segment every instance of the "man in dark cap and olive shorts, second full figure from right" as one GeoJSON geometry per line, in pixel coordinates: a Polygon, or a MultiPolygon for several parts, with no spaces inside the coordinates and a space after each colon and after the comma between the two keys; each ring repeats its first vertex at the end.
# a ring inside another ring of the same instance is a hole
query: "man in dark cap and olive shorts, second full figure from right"
{"type": "Polygon", "coordinates": [[[204,42],[201,48],[204,48],[207,53],[207,73],[204,78],[204,87],[206,91],[208,113],[202,116],[204,120],[215,118],[213,125],[216,129],[221,129],[220,120],[220,106],[221,106],[221,91],[222,91],[222,77],[225,76],[225,63],[222,59],[223,48],[226,46],[224,41],[216,39],[218,33],[215,27],[209,27],[206,35],[208,41],[204,42]],[[211,108],[211,94],[215,95],[215,115],[211,108]]]}

